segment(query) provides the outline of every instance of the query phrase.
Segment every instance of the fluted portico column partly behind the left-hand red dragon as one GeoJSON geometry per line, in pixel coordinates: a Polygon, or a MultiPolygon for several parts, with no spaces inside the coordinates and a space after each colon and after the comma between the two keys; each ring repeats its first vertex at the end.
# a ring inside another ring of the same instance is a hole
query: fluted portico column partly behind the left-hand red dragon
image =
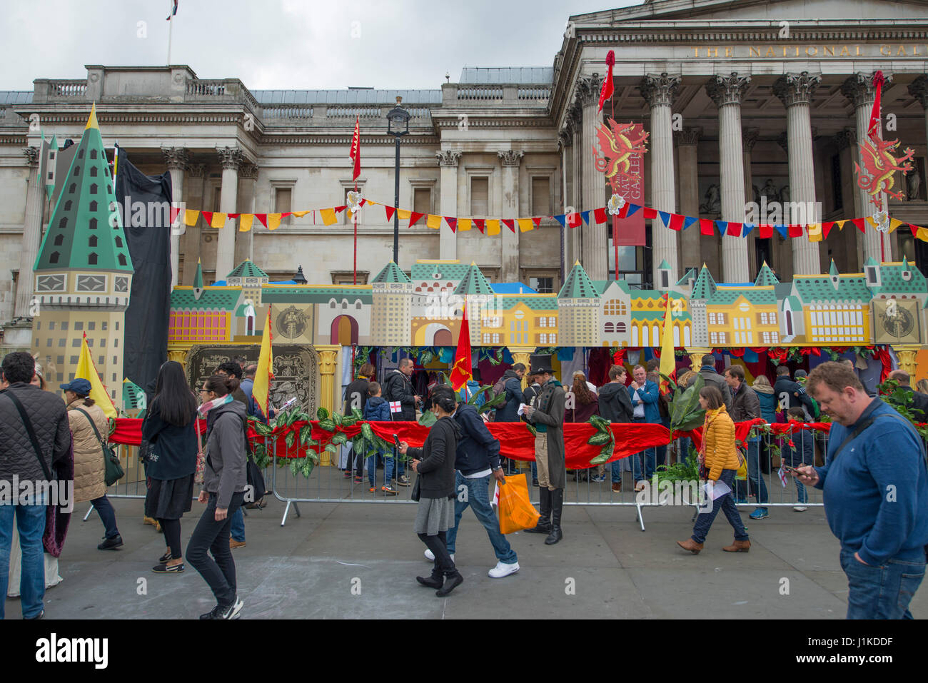
{"type": "MultiPolygon", "coordinates": [[[[606,180],[596,170],[593,156],[593,141],[597,139],[596,131],[602,117],[599,115],[599,86],[602,80],[598,75],[583,78],[577,83],[577,99],[583,108],[583,145],[581,147],[581,205],[577,211],[592,211],[606,205],[606,180]]],[[[583,230],[580,247],[580,263],[587,275],[594,280],[608,279],[608,233],[605,224],[597,225],[592,213],[588,226],[581,225],[574,230],[583,230]]]]}

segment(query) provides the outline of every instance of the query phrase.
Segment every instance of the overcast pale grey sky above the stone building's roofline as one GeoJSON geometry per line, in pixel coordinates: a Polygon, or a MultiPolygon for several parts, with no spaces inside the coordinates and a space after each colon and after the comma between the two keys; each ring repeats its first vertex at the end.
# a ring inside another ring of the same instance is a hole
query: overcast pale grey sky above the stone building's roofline
{"type": "MultiPolygon", "coordinates": [[[[551,66],[569,16],[637,4],[180,0],[171,63],[189,65],[200,78],[238,78],[252,90],[438,88],[445,72],[458,81],[465,66],[551,66]]],[[[6,2],[0,90],[32,90],[36,78],[85,78],[86,64],[166,64],[170,6],[170,0],[6,2]]]]}

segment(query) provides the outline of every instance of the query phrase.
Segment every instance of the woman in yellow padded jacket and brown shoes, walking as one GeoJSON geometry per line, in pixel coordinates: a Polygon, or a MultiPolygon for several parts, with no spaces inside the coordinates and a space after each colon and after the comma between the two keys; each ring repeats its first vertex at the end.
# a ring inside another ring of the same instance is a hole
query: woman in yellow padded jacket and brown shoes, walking
{"type": "Polygon", "coordinates": [[[718,510],[725,511],[728,523],[734,527],[735,542],[722,548],[728,552],[747,552],[751,541],[747,530],[738,515],[738,508],[731,499],[731,488],[738,471],[739,457],[735,448],[735,423],[728,417],[722,393],[715,386],[702,387],[699,393],[699,405],[705,410],[705,424],[702,427],[702,452],[705,469],[709,480],[717,485],[719,482],[728,486],[728,493],[715,500],[707,500],[708,509],[700,509],[700,514],[693,525],[693,535],[685,541],[677,541],[677,546],[690,550],[695,555],[702,550],[709,527],[715,521],[718,510]]]}

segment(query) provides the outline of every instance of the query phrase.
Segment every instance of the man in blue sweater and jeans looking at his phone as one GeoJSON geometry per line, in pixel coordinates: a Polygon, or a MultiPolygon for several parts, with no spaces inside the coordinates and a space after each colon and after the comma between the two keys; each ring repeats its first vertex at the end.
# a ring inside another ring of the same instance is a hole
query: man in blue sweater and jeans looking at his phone
{"type": "Polygon", "coordinates": [[[806,386],[834,422],[825,466],[802,467],[797,475],[824,491],[847,574],[847,618],[911,619],[909,602],[924,578],[928,544],[921,440],[842,363],[822,363],[806,386]]]}

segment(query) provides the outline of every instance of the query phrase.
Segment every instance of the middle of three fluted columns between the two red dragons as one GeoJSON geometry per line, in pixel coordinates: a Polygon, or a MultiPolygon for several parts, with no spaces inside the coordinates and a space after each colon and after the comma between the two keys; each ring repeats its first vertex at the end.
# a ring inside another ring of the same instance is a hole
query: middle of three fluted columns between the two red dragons
{"type": "MultiPolygon", "coordinates": [[[[744,220],[744,152],[741,148],[741,97],[750,76],[715,76],[706,93],[718,107],[718,166],[722,185],[722,220],[744,220]]],[[[722,238],[722,271],[727,282],[748,280],[748,244],[745,238],[722,238]]]]}

